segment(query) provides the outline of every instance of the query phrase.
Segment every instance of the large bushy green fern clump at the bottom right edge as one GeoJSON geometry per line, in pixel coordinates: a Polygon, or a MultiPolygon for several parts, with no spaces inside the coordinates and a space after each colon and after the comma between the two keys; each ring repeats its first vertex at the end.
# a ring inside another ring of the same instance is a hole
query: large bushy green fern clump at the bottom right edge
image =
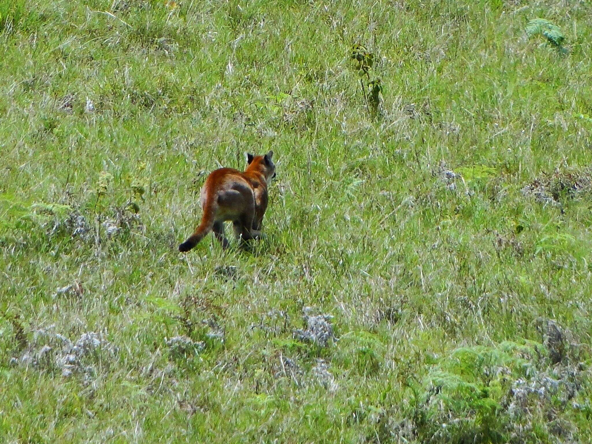
{"type": "Polygon", "coordinates": [[[521,340],[461,347],[441,356],[411,390],[423,442],[506,442],[504,397],[513,381],[533,374],[547,352],[521,340]]]}

